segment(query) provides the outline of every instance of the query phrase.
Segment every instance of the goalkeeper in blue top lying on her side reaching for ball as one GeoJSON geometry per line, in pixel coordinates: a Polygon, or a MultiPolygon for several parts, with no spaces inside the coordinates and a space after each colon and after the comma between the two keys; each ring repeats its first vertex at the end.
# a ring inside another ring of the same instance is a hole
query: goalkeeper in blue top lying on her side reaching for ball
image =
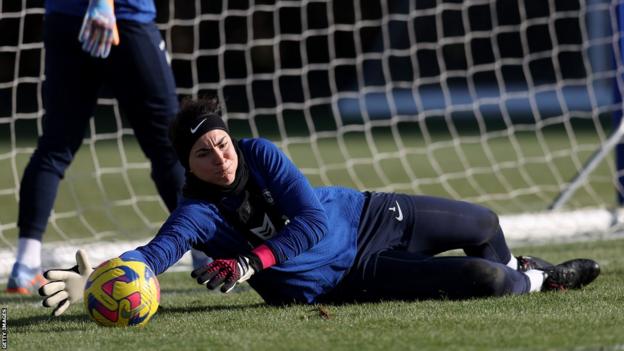
{"type": "MultiPolygon", "coordinates": [[[[428,196],[313,188],[274,144],[233,139],[215,100],[185,100],[171,137],[187,171],[184,200],[145,246],[157,274],[196,248],[192,275],[230,291],[248,280],[269,304],[464,299],[580,288],[598,264],[514,257],[490,210],[428,196]],[[463,249],[466,256],[435,256],[463,249]]],[[[81,255],[79,255],[80,257],[81,255]]],[[[62,313],[91,272],[52,270],[40,293],[62,313]]]]}

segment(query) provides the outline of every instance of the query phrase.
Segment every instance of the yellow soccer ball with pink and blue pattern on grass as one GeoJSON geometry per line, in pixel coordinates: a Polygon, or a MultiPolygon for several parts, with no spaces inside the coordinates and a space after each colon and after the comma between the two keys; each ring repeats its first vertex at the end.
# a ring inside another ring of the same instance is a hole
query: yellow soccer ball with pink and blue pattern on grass
{"type": "Polygon", "coordinates": [[[160,287],[143,262],[113,258],[89,276],[84,306],[91,319],[108,327],[143,326],[158,310],[160,287]]]}

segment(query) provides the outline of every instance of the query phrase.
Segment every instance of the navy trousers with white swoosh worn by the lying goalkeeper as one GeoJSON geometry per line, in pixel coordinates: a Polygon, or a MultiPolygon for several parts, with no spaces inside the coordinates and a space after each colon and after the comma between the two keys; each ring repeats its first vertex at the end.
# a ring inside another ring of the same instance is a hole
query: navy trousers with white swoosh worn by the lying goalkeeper
{"type": "Polygon", "coordinates": [[[498,217],[475,204],[372,193],[354,265],[321,300],[465,299],[529,291],[511,259],[498,217]],[[466,256],[436,256],[462,249],[466,256]]]}

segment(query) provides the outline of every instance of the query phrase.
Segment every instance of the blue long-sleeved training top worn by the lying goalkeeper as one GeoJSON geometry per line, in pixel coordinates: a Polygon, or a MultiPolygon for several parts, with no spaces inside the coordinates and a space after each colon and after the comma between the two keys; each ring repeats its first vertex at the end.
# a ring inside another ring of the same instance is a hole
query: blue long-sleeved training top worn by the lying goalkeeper
{"type": "MultiPolygon", "coordinates": [[[[342,187],[313,188],[299,169],[273,143],[239,142],[262,191],[289,223],[269,238],[276,265],[252,276],[250,285],[269,303],[313,303],[329,292],[353,264],[363,193],[342,187]]],[[[141,253],[160,274],[188,250],[231,258],[249,251],[245,237],[226,222],[213,203],[185,198],[156,236],[130,253],[141,253]]]]}

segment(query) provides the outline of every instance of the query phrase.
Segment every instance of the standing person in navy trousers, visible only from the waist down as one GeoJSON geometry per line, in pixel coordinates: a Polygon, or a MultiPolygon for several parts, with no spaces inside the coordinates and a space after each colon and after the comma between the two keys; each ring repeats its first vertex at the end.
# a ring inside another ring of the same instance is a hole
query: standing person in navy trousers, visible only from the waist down
{"type": "Polygon", "coordinates": [[[46,0],[45,7],[46,114],[21,180],[17,260],[7,286],[8,292],[20,294],[36,291],[43,282],[43,233],[103,85],[129,119],[169,210],[177,205],[184,183],[184,170],[168,139],[178,100],[153,1],[46,0]]]}

